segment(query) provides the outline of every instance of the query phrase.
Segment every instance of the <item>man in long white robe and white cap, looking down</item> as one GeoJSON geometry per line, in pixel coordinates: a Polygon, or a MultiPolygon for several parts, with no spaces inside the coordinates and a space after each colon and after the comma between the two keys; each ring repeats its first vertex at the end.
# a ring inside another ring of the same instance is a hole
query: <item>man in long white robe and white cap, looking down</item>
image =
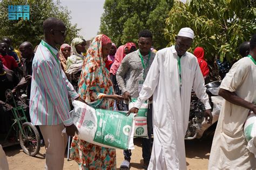
{"type": "Polygon", "coordinates": [[[144,81],[135,107],[137,113],[143,101],[153,94],[154,143],[148,169],[186,169],[184,137],[190,114],[191,90],[204,103],[206,118],[212,114],[205,92],[204,78],[197,58],[186,52],[194,32],[183,28],[176,45],[159,50],[144,81]]]}

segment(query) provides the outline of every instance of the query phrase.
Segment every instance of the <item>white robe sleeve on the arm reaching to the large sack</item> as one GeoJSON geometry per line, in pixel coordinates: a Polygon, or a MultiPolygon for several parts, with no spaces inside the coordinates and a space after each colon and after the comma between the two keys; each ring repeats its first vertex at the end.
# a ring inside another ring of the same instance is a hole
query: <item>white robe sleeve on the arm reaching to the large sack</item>
{"type": "Polygon", "coordinates": [[[160,70],[159,70],[158,54],[157,54],[156,57],[154,57],[154,60],[151,64],[149,72],[147,73],[147,77],[142,86],[142,91],[140,91],[138,100],[134,105],[134,107],[140,108],[143,102],[152,96],[159,82],[159,74],[160,74],[160,70]]]}

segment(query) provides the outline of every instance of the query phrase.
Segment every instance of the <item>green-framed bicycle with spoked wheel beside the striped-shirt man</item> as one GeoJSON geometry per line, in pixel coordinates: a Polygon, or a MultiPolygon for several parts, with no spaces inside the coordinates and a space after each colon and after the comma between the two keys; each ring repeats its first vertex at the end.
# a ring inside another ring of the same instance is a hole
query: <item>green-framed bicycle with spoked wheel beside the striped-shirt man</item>
{"type": "Polygon", "coordinates": [[[28,121],[23,106],[18,106],[11,90],[5,91],[6,101],[12,100],[11,112],[14,115],[14,123],[11,125],[4,142],[7,141],[12,130],[16,131],[16,137],[19,140],[25,154],[34,157],[40,150],[40,135],[37,128],[28,121]]]}

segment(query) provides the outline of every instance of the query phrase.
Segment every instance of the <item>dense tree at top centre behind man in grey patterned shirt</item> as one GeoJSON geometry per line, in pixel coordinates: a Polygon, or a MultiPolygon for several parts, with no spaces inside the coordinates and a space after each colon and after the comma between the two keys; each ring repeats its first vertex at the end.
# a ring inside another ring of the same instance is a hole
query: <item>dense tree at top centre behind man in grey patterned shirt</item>
{"type": "Polygon", "coordinates": [[[106,0],[100,22],[100,32],[109,36],[118,46],[138,42],[140,30],[153,34],[154,47],[168,44],[164,38],[165,18],[173,0],[106,0]]]}

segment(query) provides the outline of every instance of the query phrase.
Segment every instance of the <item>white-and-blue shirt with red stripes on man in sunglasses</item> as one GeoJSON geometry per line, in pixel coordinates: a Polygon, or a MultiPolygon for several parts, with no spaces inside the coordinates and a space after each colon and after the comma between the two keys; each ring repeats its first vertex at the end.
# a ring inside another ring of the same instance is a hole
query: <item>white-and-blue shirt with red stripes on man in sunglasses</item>
{"type": "Polygon", "coordinates": [[[72,124],[68,96],[72,99],[79,96],[61,69],[57,55],[57,49],[43,40],[38,45],[32,63],[30,118],[33,125],[72,124]]]}

